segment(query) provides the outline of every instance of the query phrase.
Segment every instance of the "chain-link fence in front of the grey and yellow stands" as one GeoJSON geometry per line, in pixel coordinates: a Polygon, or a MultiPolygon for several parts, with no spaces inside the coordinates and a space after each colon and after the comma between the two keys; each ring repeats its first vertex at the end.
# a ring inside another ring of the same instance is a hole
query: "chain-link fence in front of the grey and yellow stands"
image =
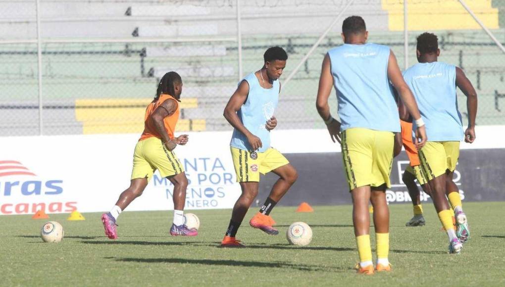
{"type": "MultiPolygon", "coordinates": [[[[279,129],[323,128],[321,63],[350,15],[365,19],[369,41],[389,45],[402,68],[417,63],[415,37],[435,32],[440,61],[463,68],[477,89],[477,124],[503,125],[505,54],[496,42],[505,42],[505,1],[467,2],[490,34],[457,0],[0,0],[0,136],[139,133],[170,70],[184,82],[177,129],[229,130],[224,105],[272,45],[289,55],[279,129]]],[[[466,122],[460,92],[458,101],[466,122]]]]}

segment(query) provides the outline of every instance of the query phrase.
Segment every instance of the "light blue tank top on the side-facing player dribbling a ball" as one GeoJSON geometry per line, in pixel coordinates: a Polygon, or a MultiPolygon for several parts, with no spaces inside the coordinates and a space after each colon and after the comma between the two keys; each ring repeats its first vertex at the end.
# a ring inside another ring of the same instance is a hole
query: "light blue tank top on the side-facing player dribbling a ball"
{"type": "MultiPolygon", "coordinates": [[[[270,147],[270,131],[265,128],[265,125],[274,115],[279,101],[279,81],[274,81],[272,88],[265,89],[260,86],[254,73],[247,75],[243,80],[249,84],[249,94],[245,103],[238,110],[237,116],[249,132],[261,139],[263,147],[258,151],[264,152],[270,147]]],[[[233,130],[230,145],[238,149],[252,151],[245,135],[237,130],[233,130]]]]}

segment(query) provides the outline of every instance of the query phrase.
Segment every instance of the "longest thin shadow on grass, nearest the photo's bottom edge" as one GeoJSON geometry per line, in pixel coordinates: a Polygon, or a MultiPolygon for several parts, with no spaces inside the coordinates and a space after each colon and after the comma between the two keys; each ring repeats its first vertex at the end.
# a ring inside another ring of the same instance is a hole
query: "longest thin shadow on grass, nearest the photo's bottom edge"
{"type": "MultiPolygon", "coordinates": [[[[105,259],[112,259],[105,257],[105,259]]],[[[184,259],[184,258],[114,258],[121,262],[137,263],[178,263],[178,264],[198,264],[211,266],[241,266],[241,267],[266,267],[266,268],[289,268],[301,271],[338,271],[338,267],[326,267],[307,264],[293,264],[288,262],[273,261],[237,261],[237,260],[212,260],[212,259],[184,259]]],[[[347,269],[345,269],[347,270],[347,269]]]]}

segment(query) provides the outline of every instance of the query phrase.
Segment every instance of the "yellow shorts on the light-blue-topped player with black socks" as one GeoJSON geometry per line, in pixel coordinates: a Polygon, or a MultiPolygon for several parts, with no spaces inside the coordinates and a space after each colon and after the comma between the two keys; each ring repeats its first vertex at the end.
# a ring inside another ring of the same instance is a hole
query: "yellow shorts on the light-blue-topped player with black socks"
{"type": "Polygon", "coordinates": [[[260,182],[260,173],[269,173],[289,163],[284,155],[274,148],[265,152],[249,152],[235,147],[230,149],[238,183],[260,182]]]}

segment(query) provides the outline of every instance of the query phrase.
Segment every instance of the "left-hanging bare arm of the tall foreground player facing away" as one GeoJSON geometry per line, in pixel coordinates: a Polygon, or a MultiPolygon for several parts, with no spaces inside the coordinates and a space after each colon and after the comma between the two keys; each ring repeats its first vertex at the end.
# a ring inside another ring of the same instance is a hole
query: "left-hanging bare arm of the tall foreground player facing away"
{"type": "Polygon", "coordinates": [[[333,88],[333,77],[331,76],[330,56],[326,54],[321,68],[321,77],[319,78],[319,88],[317,92],[316,107],[319,116],[323,119],[330,133],[330,138],[333,142],[340,143],[340,122],[333,119],[330,114],[330,105],[328,98],[330,97],[331,89],[333,88]]]}

